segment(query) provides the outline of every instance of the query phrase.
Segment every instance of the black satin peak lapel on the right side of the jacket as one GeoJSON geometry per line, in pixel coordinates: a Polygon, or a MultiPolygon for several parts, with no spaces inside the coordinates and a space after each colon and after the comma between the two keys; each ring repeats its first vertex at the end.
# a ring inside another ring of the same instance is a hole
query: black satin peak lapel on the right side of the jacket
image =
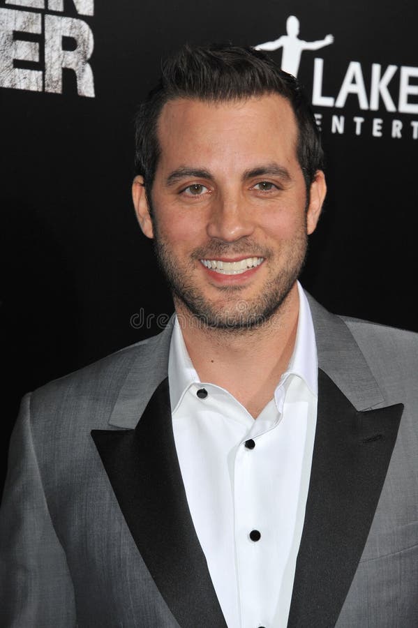
{"type": "Polygon", "coordinates": [[[373,521],[402,404],[357,412],[323,371],[288,628],[336,624],[373,521]]]}

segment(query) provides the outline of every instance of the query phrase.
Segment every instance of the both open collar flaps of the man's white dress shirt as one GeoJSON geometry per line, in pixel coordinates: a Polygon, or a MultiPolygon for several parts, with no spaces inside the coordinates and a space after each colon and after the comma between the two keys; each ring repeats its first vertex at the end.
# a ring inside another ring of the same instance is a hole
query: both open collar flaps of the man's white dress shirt
{"type": "MultiPolygon", "coordinates": [[[[314,395],[318,395],[318,357],[311,309],[299,281],[297,282],[297,289],[299,292],[299,320],[297,323],[296,341],[288,368],[283,373],[280,382],[278,382],[275,394],[276,403],[278,402],[278,389],[288,379],[289,375],[301,377],[311,392],[314,395]]],[[[172,412],[174,412],[191,384],[200,383],[197,371],[188,355],[177,316],[175,317],[170,341],[168,380],[170,382],[170,403],[172,412]]]]}

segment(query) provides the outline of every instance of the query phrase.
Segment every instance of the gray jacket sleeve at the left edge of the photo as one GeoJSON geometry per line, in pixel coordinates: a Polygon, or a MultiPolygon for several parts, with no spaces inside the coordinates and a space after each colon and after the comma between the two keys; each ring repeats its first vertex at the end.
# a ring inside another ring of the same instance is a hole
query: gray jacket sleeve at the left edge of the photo
{"type": "Polygon", "coordinates": [[[10,440],[0,509],[0,625],[76,625],[73,583],[48,511],[33,444],[30,395],[10,440]]]}

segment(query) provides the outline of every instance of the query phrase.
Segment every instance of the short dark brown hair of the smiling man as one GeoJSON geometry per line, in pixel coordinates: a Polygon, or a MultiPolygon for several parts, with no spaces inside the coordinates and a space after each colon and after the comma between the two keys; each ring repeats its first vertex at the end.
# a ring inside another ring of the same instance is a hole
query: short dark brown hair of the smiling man
{"type": "Polygon", "coordinates": [[[158,118],[167,101],[193,98],[212,103],[279,94],[289,101],[298,126],[297,158],[309,191],[322,168],[320,133],[308,99],[297,79],[281,70],[267,54],[251,47],[184,45],[163,62],[161,77],[135,117],[135,174],[142,174],[149,194],[160,147],[158,118]]]}

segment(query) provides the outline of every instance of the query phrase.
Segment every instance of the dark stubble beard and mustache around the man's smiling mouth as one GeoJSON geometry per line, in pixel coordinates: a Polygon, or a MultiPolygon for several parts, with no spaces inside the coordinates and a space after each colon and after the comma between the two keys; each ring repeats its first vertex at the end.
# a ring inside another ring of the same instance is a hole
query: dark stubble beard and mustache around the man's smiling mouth
{"type": "MultiPolygon", "coordinates": [[[[267,278],[259,294],[250,299],[244,298],[244,295],[240,298],[240,293],[245,291],[245,287],[221,286],[218,288],[220,299],[216,302],[205,297],[200,286],[188,279],[193,277],[196,262],[257,251],[258,257],[264,257],[267,263],[272,264],[273,252],[269,249],[260,250],[260,246],[255,246],[250,239],[242,239],[234,244],[211,241],[208,246],[192,251],[186,264],[179,263],[170,246],[158,233],[156,221],[153,222],[156,257],[172,292],[177,313],[192,315],[193,324],[203,329],[244,332],[272,324],[274,315],[285,302],[304,266],[308,246],[306,229],[301,230],[297,237],[287,244],[288,251],[281,252],[285,257],[285,265],[276,274],[271,274],[267,278]]],[[[190,316],[188,318],[190,319],[190,316]]]]}

